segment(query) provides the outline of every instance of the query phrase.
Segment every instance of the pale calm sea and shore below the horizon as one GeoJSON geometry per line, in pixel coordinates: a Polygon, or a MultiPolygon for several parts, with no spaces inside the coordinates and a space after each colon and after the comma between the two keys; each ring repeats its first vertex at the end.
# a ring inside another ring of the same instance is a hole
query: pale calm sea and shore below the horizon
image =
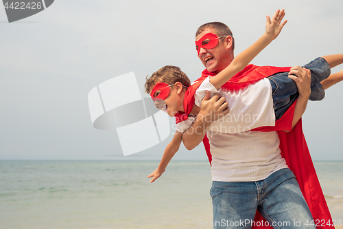
{"type": "MultiPolygon", "coordinates": [[[[336,221],[343,219],[343,162],[314,162],[336,221]]],[[[211,228],[209,162],[0,161],[0,228],[211,228]]]]}

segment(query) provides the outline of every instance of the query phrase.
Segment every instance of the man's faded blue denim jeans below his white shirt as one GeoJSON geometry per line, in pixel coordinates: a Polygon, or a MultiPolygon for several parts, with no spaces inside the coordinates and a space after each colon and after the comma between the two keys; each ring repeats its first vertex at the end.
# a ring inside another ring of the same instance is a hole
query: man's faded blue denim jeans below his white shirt
{"type": "Polygon", "coordinates": [[[256,210],[273,228],[315,228],[310,225],[311,212],[289,168],[258,182],[214,181],[210,194],[215,229],[251,228],[256,210]]]}

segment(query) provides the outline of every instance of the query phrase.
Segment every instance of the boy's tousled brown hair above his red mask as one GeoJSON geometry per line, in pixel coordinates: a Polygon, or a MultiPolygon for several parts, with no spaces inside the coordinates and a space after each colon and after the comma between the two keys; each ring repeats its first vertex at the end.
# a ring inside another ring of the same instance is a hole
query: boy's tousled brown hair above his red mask
{"type": "Polygon", "coordinates": [[[187,75],[181,71],[180,67],[167,65],[154,72],[150,78],[146,78],[145,92],[150,94],[150,87],[156,85],[156,83],[166,83],[167,85],[174,85],[174,83],[180,82],[182,85],[189,87],[191,80],[187,75]]]}

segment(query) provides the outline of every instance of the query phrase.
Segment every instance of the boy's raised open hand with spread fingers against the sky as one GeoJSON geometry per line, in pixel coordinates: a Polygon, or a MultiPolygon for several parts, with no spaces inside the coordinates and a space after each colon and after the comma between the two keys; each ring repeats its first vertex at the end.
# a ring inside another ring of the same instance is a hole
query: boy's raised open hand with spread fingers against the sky
{"type": "Polygon", "coordinates": [[[287,20],[281,23],[283,17],[285,17],[285,10],[276,10],[272,19],[267,15],[267,22],[265,23],[265,33],[270,36],[272,40],[279,36],[283,26],[287,23],[287,20]]]}

